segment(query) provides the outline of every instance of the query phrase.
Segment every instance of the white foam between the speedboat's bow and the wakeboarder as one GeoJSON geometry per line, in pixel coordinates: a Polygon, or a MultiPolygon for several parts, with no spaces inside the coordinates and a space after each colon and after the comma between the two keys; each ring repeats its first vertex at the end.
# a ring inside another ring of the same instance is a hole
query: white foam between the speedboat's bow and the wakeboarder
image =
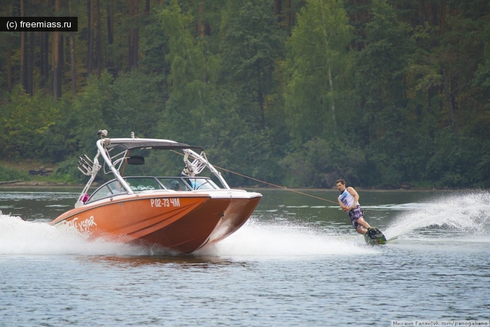
{"type": "Polygon", "coordinates": [[[326,235],[298,225],[260,223],[249,220],[233,235],[206,246],[196,254],[260,256],[261,258],[308,258],[318,255],[378,253],[356,237],[326,235]]]}

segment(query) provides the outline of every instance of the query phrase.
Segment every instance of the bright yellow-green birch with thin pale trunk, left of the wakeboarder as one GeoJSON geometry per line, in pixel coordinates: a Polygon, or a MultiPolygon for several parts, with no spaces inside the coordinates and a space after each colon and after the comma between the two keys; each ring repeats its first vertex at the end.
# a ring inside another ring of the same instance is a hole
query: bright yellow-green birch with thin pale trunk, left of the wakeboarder
{"type": "Polygon", "coordinates": [[[298,142],[336,136],[336,111],[347,109],[339,104],[345,104],[341,98],[348,92],[339,90],[349,66],[347,46],[352,38],[342,1],[309,1],[297,16],[283,69],[287,78],[285,111],[298,142]]]}

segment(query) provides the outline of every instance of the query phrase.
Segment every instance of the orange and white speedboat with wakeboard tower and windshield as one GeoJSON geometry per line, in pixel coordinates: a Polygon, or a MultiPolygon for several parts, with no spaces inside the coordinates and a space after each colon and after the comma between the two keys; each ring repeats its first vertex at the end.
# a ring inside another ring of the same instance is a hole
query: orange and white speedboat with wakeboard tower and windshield
{"type": "Polygon", "coordinates": [[[238,230],[262,198],[260,193],[230,188],[198,146],[167,139],[139,139],[134,132],[130,138],[121,139],[110,139],[106,130],[98,135],[94,158],[78,158],[78,169],[90,176],[89,181],[74,208],[50,225],[90,238],[157,244],[179,253],[192,253],[238,230]],[[146,176],[155,167],[176,162],[156,159],[154,153],[162,152],[182,156],[181,175],[146,176]],[[146,167],[144,174],[125,176],[125,172],[146,167]],[[102,172],[113,179],[89,194],[102,172]]]}

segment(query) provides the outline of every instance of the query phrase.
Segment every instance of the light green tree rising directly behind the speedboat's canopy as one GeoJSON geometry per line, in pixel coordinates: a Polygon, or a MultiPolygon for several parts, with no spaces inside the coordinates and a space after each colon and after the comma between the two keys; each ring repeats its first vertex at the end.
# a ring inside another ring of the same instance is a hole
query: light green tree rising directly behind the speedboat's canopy
{"type": "Polygon", "coordinates": [[[214,83],[219,60],[216,55],[204,53],[204,41],[190,33],[193,17],[181,11],[178,1],[171,1],[158,17],[169,35],[165,59],[171,67],[167,78],[169,99],[159,130],[163,131],[162,137],[197,141],[204,120],[216,106],[214,83]]]}

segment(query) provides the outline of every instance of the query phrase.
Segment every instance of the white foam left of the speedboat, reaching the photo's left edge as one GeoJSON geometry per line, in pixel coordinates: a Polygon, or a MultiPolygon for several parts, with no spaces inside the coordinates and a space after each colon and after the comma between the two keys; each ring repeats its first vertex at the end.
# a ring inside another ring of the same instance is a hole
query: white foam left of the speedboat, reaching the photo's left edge
{"type": "Polygon", "coordinates": [[[137,255],[139,246],[102,239],[89,240],[82,235],[56,228],[45,222],[23,221],[18,216],[0,214],[0,255],[2,254],[83,254],[137,255]]]}

